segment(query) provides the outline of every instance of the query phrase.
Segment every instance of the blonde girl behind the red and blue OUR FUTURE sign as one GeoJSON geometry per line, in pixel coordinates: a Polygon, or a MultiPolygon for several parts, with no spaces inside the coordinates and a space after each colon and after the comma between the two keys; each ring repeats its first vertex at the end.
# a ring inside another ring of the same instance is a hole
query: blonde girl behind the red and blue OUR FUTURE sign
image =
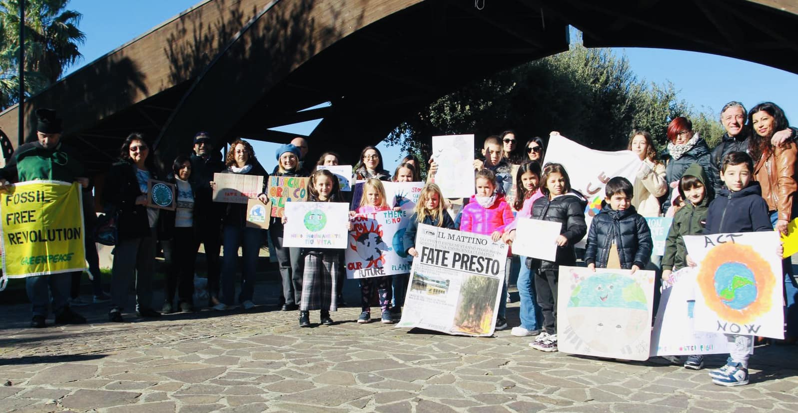
{"type": "MultiPolygon", "coordinates": [[[[385,187],[382,186],[379,179],[371,178],[363,184],[363,195],[360,199],[360,207],[350,212],[350,214],[354,218],[354,216],[358,214],[369,214],[371,212],[390,209],[391,207],[388,206],[385,199],[385,187]]],[[[360,317],[358,317],[358,323],[363,324],[371,321],[370,301],[374,285],[377,285],[377,297],[380,301],[380,308],[382,309],[382,322],[385,324],[393,324],[393,317],[391,317],[389,309],[389,303],[393,295],[391,277],[389,275],[360,279],[362,312],[360,313],[360,317]]]]}

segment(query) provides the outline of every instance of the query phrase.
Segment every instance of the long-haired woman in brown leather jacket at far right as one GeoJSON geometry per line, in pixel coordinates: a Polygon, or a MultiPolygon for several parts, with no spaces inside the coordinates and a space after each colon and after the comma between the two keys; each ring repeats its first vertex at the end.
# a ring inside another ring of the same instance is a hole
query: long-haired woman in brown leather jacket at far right
{"type": "MultiPolygon", "coordinates": [[[[770,220],[776,230],[787,234],[787,225],[793,217],[792,201],[798,191],[796,184],[796,157],[798,148],[792,140],[773,146],[773,133],[788,127],[784,111],[776,104],[764,102],[749,112],[749,125],[753,128],[749,151],[756,160],[754,178],[762,187],[762,197],[768,203],[770,220]]],[[[792,277],[790,258],[784,260],[784,317],[787,322],[788,343],[798,339],[798,282],[792,277]]]]}

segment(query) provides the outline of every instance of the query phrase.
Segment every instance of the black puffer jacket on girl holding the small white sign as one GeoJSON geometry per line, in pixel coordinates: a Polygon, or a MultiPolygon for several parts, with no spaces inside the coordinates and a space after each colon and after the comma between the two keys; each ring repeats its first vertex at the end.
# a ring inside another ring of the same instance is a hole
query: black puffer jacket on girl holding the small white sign
{"type": "Polygon", "coordinates": [[[530,268],[557,269],[559,266],[573,266],[575,264],[574,244],[582,240],[587,234],[585,207],[587,207],[587,201],[577,191],[556,196],[555,199],[551,200],[549,200],[548,196],[543,196],[532,204],[531,218],[560,222],[563,225],[560,234],[567,238],[568,243],[565,246],[557,247],[555,262],[531,259],[527,261],[527,265],[530,268]]]}

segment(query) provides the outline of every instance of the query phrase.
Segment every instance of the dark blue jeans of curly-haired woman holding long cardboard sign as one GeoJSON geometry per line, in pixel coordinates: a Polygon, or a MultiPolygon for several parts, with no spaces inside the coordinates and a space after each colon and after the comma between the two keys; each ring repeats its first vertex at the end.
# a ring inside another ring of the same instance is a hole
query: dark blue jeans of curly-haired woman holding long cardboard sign
{"type": "Polygon", "coordinates": [[[226,225],[223,229],[224,256],[222,258],[222,302],[235,303],[235,267],[241,247],[241,293],[239,302],[251,301],[255,293],[255,266],[258,263],[260,246],[263,245],[263,230],[226,225]]]}

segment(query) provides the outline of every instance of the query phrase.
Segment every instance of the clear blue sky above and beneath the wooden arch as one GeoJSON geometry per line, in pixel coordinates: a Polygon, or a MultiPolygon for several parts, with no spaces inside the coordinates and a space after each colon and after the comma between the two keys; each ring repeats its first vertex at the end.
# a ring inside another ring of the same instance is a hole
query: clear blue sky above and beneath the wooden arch
{"type": "MultiPolygon", "coordinates": [[[[86,33],[81,47],[84,60],[77,69],[109,53],[120,45],[159,26],[184,10],[202,3],[199,0],[72,0],[68,8],[83,14],[80,28],[86,33]]],[[[705,53],[667,49],[614,49],[626,55],[639,79],[662,84],[674,83],[679,96],[697,109],[716,112],[729,100],[740,100],[750,108],[763,100],[771,100],[784,108],[792,124],[798,124],[798,75],[705,53]]],[[[512,125],[508,125],[512,128],[512,125]]],[[[294,132],[307,134],[309,128],[294,132]]],[[[468,131],[462,131],[468,133],[468,131]]],[[[523,139],[522,139],[523,140],[523,139]]],[[[275,144],[254,143],[255,151],[267,170],[274,166],[275,144]]],[[[392,170],[403,156],[398,148],[377,145],[392,170]]]]}

